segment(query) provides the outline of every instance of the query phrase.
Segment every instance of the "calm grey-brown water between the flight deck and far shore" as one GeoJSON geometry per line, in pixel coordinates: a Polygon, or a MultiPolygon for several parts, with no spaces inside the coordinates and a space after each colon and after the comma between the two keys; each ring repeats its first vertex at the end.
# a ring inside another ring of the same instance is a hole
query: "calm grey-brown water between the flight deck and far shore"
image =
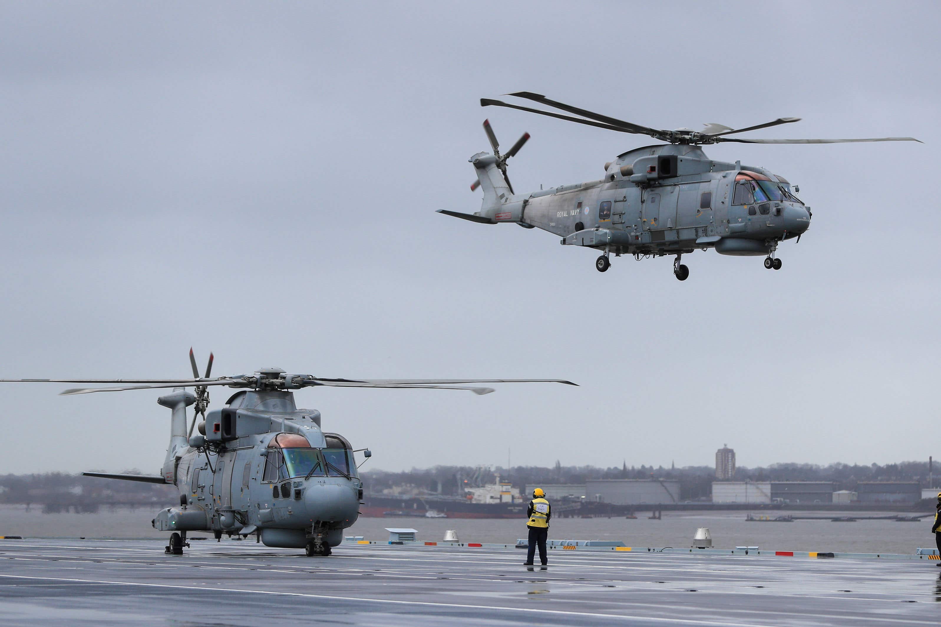
{"type": "MultiPolygon", "coordinates": [[[[0,506],[0,536],[33,538],[166,538],[152,529],[151,509],[101,510],[94,514],[43,514],[41,509],[0,506]]],[[[663,512],[662,520],[624,518],[563,518],[553,520],[549,537],[558,540],[619,540],[628,546],[689,546],[697,527],[710,528],[713,545],[720,548],[759,546],[778,551],[834,551],[858,553],[914,553],[917,547],[933,547],[931,519],[919,523],[858,521],[832,523],[750,523],[744,511],[663,512]]],[[[823,516],[822,512],[789,512],[823,516]]],[[[885,516],[888,512],[855,515],[885,516]]],[[[477,520],[447,518],[360,518],[346,535],[367,540],[388,540],[385,527],[411,527],[418,539],[440,541],[454,529],[461,541],[513,543],[526,536],[525,520],[477,520]]]]}

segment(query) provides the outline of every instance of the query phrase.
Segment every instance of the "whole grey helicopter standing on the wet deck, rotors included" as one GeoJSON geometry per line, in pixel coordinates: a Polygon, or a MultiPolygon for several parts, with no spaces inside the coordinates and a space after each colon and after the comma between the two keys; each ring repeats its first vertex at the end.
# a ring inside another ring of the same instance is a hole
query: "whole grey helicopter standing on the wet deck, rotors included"
{"type": "Polygon", "coordinates": [[[470,390],[491,387],[461,384],[558,383],[560,379],[325,379],[261,368],[252,374],[210,378],[213,355],[203,376],[189,353],[192,379],[2,379],[0,383],[112,384],[72,388],[62,395],[172,388],[157,403],[170,410],[170,440],[159,475],[82,473],[172,484],[180,491],[178,507],[162,509],[152,520],[169,531],[166,553],[183,555],[188,531],[211,531],[247,538],[266,546],[303,548],[307,556],[328,556],[343,541],[343,529],[359,516],[363,484],[355,453],[363,462],[368,448],[353,449],[339,433],[321,429],[317,410],[298,409],[295,390],[306,387],[385,387],[470,390]],[[207,413],[209,388],[236,391],[225,407],[207,413]],[[195,387],[195,394],[186,391],[195,387]],[[186,428],[186,408],[193,417],[186,428]],[[197,420],[201,416],[199,423],[197,420]],[[193,434],[194,427],[197,431],[193,434]]]}

